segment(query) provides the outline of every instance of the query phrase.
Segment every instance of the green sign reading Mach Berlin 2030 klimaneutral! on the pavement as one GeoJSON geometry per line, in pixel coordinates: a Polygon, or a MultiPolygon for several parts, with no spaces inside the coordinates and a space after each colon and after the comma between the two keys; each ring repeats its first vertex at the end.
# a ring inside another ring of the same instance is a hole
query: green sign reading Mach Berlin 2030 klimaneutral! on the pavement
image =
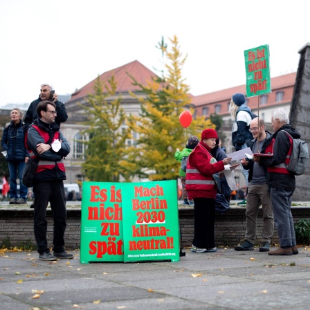
{"type": "Polygon", "coordinates": [[[179,262],[176,181],[122,183],[122,214],[125,262],[179,262]]]}

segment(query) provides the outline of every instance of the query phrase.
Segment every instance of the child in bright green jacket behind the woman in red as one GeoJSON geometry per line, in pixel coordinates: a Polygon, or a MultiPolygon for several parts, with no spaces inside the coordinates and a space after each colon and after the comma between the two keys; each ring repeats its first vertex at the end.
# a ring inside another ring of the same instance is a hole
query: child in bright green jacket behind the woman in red
{"type": "Polygon", "coordinates": [[[192,150],[196,147],[198,143],[199,143],[199,138],[197,138],[197,136],[191,136],[190,138],[188,138],[186,147],[182,151],[180,151],[180,149],[176,149],[176,152],[174,153],[174,158],[176,158],[176,161],[182,162],[183,160],[183,164],[181,164],[181,167],[179,170],[179,176],[181,178],[182,199],[184,199],[183,201],[184,205],[194,204],[194,201],[188,200],[188,192],[186,192],[185,190],[185,176],[186,176],[186,163],[187,163],[188,156],[190,156],[190,153],[192,152],[192,150]],[[185,170],[184,170],[184,167],[185,167],[185,170]]]}

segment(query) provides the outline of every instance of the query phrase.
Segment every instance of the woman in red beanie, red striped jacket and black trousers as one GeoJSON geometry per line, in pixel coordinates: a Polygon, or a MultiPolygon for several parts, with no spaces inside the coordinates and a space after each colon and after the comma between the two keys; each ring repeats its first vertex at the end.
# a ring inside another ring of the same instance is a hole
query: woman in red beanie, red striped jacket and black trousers
{"type": "Polygon", "coordinates": [[[216,145],[217,131],[205,129],[201,141],[188,158],[185,188],[188,199],[194,200],[194,239],[192,252],[215,252],[215,197],[217,185],[212,174],[224,170],[231,157],[217,162],[211,154],[216,145]]]}

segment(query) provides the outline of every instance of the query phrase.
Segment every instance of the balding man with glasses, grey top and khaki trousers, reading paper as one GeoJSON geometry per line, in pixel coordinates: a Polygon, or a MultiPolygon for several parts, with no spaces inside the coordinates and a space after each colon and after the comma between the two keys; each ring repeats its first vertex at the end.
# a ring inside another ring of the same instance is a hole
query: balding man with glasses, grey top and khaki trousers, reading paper
{"type": "MultiPolygon", "coordinates": [[[[262,118],[254,118],[250,122],[249,131],[253,140],[248,147],[253,153],[264,153],[271,143],[272,134],[265,130],[265,122],[262,118]]],[[[257,232],[257,216],[259,206],[262,205],[263,227],[262,243],[259,252],[268,252],[271,237],[274,230],[273,206],[271,203],[270,190],[267,185],[267,167],[261,167],[253,160],[243,158],[241,164],[248,170],[248,196],[246,198],[246,235],[244,242],[235,246],[235,250],[254,250],[257,232]]]]}

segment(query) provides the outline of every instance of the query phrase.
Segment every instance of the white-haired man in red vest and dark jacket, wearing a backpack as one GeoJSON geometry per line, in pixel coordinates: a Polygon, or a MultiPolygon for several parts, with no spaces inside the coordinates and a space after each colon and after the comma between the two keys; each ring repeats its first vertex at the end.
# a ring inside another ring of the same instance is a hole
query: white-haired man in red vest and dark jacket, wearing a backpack
{"type": "Polygon", "coordinates": [[[280,248],[270,250],[268,255],[298,254],[296,237],[291,212],[292,195],[295,190],[295,176],[286,165],[289,164],[293,138],[300,138],[300,133],[289,125],[286,109],[275,109],[271,113],[271,126],[274,134],[271,143],[266,147],[265,154],[271,157],[253,156],[253,160],[262,167],[267,167],[267,183],[271,187],[271,202],[280,248]],[[286,132],[287,133],[286,133],[286,132]]]}

